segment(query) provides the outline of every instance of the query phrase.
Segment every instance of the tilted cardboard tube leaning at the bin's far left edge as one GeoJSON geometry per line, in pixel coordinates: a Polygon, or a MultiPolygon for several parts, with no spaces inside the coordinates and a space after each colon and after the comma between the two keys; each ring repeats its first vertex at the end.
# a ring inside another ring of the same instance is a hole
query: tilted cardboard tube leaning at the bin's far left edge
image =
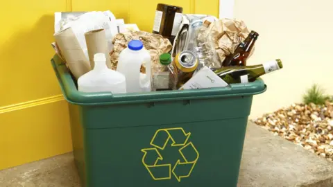
{"type": "Polygon", "coordinates": [[[69,70],[76,79],[91,70],[89,61],[83,53],[78,39],[71,28],[60,31],[54,35],[60,48],[62,57],[65,58],[69,70]]]}

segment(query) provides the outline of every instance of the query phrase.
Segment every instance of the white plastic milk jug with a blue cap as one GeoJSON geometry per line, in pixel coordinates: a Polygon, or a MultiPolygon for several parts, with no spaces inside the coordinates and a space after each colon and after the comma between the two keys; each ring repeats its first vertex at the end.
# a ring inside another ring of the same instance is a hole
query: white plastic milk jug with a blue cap
{"type": "Polygon", "coordinates": [[[140,40],[132,40],[119,55],[117,71],[126,77],[127,93],[151,91],[151,55],[140,40]],[[146,74],[140,73],[142,64],[146,74]]]}

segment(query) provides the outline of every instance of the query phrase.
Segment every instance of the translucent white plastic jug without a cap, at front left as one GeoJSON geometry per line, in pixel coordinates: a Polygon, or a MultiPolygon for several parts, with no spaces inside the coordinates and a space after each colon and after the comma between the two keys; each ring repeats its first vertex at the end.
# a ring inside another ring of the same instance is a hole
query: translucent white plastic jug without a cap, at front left
{"type": "Polygon", "coordinates": [[[94,62],[94,69],[78,78],[78,91],[111,91],[112,94],[125,94],[126,78],[121,73],[108,69],[105,54],[96,53],[94,62]]]}

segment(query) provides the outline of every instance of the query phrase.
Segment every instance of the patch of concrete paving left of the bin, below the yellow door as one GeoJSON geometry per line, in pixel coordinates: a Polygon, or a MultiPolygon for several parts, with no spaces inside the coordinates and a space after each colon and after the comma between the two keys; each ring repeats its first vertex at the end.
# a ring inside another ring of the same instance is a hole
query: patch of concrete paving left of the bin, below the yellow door
{"type": "Polygon", "coordinates": [[[1,187],[80,187],[71,153],[0,171],[1,187]]]}

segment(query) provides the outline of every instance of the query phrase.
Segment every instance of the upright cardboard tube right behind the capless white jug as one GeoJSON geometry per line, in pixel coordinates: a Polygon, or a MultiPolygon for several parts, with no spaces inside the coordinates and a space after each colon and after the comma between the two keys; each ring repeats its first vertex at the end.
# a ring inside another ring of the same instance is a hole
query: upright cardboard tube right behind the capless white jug
{"type": "Polygon", "coordinates": [[[89,62],[92,69],[94,69],[94,55],[96,53],[105,53],[106,65],[111,69],[110,51],[108,51],[105,30],[102,28],[85,33],[85,42],[87,43],[89,62]]]}

